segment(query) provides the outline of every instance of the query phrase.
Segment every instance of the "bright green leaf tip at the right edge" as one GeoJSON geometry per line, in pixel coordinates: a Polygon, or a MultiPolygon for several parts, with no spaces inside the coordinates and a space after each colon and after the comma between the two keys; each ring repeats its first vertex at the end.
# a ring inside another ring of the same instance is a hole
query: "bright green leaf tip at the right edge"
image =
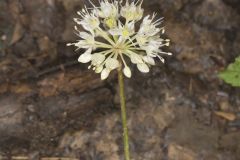
{"type": "Polygon", "coordinates": [[[221,72],[219,77],[234,87],[240,87],[240,56],[225,71],[221,72]]]}

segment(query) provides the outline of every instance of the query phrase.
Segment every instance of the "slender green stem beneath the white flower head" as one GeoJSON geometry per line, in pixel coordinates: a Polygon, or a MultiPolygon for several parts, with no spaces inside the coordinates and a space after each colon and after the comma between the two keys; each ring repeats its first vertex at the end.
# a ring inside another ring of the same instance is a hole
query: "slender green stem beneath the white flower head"
{"type": "Polygon", "coordinates": [[[119,95],[120,95],[121,115],[122,115],[122,125],[123,125],[124,157],[125,157],[125,160],[130,160],[126,101],[125,101],[125,94],[124,94],[124,80],[123,80],[122,67],[119,67],[118,69],[118,83],[119,83],[119,95]]]}

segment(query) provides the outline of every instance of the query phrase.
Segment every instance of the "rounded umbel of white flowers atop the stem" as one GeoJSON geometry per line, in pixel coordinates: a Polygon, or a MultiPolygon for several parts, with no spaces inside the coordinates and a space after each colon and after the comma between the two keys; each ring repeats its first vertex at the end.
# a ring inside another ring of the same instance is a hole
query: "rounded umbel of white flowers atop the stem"
{"type": "Polygon", "coordinates": [[[110,72],[117,69],[120,63],[124,65],[123,73],[130,78],[132,73],[125,58],[129,58],[137,65],[139,71],[149,72],[149,68],[155,65],[154,58],[159,58],[163,63],[163,46],[169,46],[169,39],[163,39],[164,28],[159,28],[162,18],[156,19],[156,14],[147,15],[143,18],[141,8],[143,0],[133,1],[125,4],[120,1],[100,0],[100,6],[92,4],[77,12],[80,18],[74,18],[77,25],[82,26],[85,31],[80,31],[75,26],[76,34],[81,38],[74,45],[77,49],[86,51],[79,57],[81,63],[91,62],[96,73],[101,73],[101,79],[106,79],[110,72]],[[140,21],[140,27],[136,23],[140,21]]]}

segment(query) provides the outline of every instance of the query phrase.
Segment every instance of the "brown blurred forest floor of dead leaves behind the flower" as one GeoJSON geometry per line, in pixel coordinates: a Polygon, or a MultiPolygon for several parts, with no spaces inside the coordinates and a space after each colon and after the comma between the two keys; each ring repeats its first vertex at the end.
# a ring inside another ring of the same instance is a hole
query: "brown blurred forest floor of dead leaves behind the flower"
{"type": "MultiPolygon", "coordinates": [[[[0,159],[123,160],[116,73],[78,64],[87,0],[0,1],[0,159]]],[[[126,79],[133,160],[239,160],[240,89],[217,73],[240,54],[239,0],[145,0],[174,55],[126,79]]]]}

